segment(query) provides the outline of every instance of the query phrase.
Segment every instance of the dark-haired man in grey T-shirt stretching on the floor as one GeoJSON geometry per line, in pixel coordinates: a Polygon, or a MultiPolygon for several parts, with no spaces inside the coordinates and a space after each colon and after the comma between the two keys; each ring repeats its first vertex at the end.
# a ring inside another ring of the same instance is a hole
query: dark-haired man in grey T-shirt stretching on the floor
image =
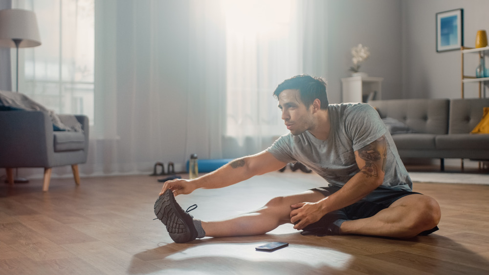
{"type": "Polygon", "coordinates": [[[412,192],[411,179],[374,108],[329,105],[326,83],[308,75],[285,80],[274,96],[290,134],[263,152],[236,159],[197,179],[163,185],[155,213],[175,242],[264,234],[285,223],[317,235],[409,238],[438,230],[438,203],[412,192]],[[174,198],[197,188],[230,186],[294,161],[321,175],[329,186],[277,197],[254,212],[211,222],[194,219],[174,198]]]}

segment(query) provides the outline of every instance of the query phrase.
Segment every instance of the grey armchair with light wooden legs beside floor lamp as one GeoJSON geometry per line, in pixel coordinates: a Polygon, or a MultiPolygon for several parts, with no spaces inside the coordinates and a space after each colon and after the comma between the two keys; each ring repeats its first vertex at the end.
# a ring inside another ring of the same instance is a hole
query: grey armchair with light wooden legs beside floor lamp
{"type": "MultiPolygon", "coordinates": [[[[66,115],[59,115],[60,119],[66,115]]],[[[83,132],[53,131],[49,115],[42,111],[0,111],[0,168],[14,184],[13,168],[44,168],[43,191],[49,189],[53,167],[71,165],[80,184],[78,164],[87,162],[89,119],[77,115],[83,132]]]]}

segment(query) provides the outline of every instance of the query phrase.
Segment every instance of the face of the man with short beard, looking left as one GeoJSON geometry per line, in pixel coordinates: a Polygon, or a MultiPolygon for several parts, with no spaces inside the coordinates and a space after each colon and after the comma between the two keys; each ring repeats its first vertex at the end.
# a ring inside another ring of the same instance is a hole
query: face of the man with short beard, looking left
{"type": "Polygon", "coordinates": [[[300,135],[314,127],[312,107],[302,103],[298,90],[283,90],[278,97],[278,107],[282,110],[282,119],[292,135],[300,135]]]}

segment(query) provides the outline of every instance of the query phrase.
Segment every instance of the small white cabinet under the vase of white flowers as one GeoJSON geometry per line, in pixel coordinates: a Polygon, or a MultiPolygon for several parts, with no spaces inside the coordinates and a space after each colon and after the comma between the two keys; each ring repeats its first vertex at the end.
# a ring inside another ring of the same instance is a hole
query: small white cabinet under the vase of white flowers
{"type": "Polygon", "coordinates": [[[381,77],[354,76],[342,78],[343,102],[367,102],[382,99],[381,77]]]}

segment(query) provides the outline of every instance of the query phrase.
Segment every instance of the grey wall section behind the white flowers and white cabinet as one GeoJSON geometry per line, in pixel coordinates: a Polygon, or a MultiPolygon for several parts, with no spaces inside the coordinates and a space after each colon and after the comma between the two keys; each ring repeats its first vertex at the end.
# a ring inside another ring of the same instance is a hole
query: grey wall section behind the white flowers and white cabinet
{"type": "Polygon", "coordinates": [[[341,78],[351,76],[351,48],[358,43],[368,46],[371,53],[360,70],[384,78],[382,98],[400,98],[401,1],[330,0],[327,16],[330,102],[341,102],[341,78]]]}

